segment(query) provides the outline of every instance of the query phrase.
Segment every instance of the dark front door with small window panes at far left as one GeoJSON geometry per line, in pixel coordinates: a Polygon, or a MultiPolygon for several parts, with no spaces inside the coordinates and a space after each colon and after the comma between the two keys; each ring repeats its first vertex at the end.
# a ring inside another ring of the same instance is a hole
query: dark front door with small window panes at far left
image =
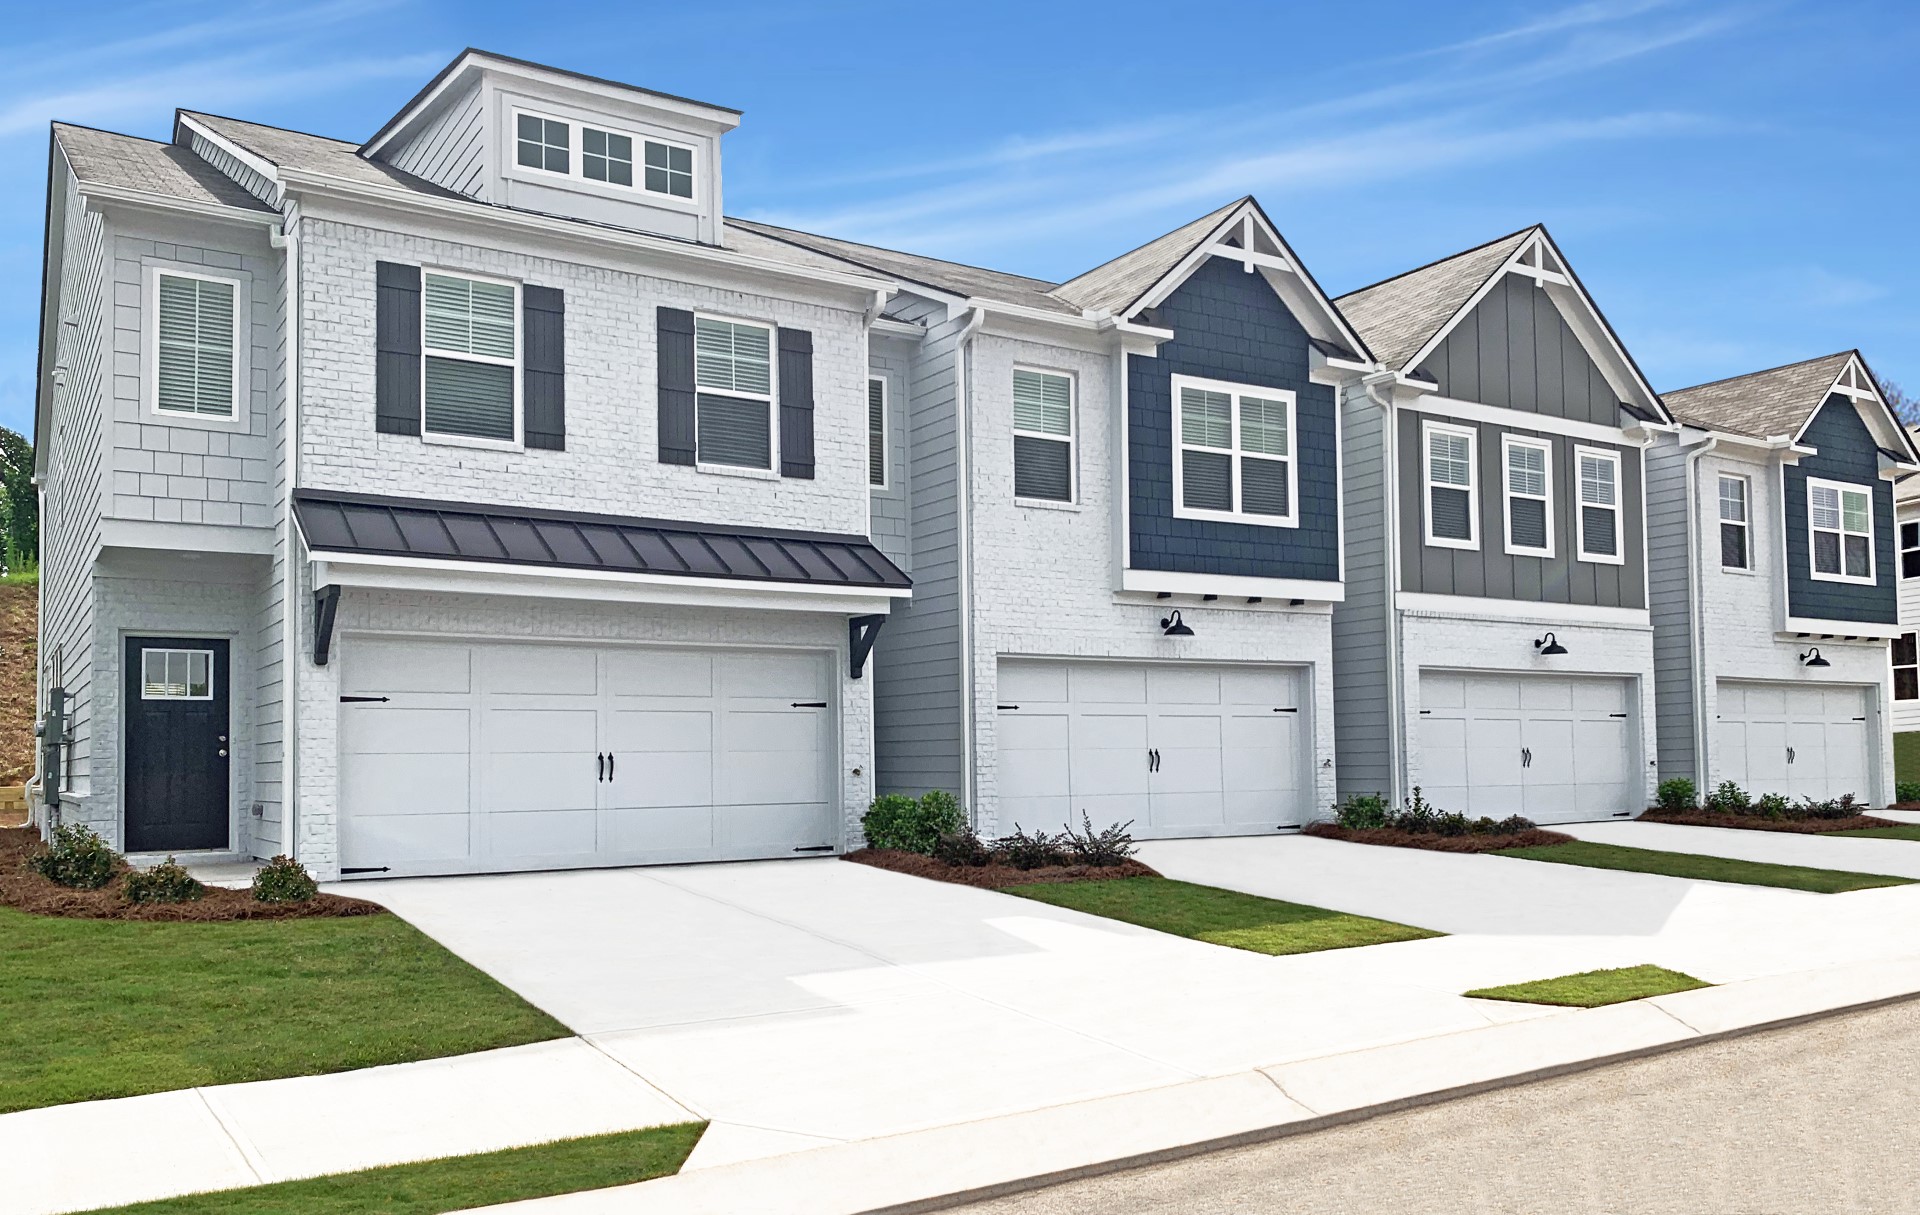
{"type": "Polygon", "coordinates": [[[127,639],[127,850],[228,846],[227,643],[127,639]]]}

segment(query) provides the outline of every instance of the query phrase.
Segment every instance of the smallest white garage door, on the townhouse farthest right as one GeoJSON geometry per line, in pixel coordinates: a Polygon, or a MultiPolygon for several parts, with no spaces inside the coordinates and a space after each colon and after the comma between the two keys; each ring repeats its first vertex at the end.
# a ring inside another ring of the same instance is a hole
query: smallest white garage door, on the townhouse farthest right
{"type": "Polygon", "coordinates": [[[1715,781],[1749,795],[1868,800],[1866,689],[1720,679],[1713,731],[1715,781]]]}

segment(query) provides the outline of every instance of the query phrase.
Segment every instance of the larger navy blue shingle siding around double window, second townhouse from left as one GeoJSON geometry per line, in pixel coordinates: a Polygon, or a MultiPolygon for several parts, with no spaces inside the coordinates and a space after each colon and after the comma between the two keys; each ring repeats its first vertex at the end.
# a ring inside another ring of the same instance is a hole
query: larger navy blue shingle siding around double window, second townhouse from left
{"type": "Polygon", "coordinates": [[[1160,305],[1175,338],[1158,359],[1127,355],[1131,566],[1240,578],[1340,578],[1334,392],[1308,380],[1308,332],[1267,280],[1210,259],[1160,305]],[[1173,518],[1173,376],[1294,392],[1300,526],[1173,518]]]}

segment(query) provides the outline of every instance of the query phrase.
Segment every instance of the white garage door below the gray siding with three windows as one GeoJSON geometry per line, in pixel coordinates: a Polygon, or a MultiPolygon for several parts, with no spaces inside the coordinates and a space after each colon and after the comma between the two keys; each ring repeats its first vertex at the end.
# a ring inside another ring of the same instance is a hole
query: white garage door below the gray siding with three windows
{"type": "Polygon", "coordinates": [[[1469,818],[1638,814],[1630,691],[1609,678],[1421,672],[1421,793],[1469,818]]]}

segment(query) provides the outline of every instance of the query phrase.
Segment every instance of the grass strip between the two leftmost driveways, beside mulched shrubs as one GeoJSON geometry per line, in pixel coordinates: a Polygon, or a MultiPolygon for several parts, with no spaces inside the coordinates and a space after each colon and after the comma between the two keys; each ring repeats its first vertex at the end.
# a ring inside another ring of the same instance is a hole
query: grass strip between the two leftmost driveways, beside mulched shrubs
{"type": "Polygon", "coordinates": [[[1169,877],[1062,881],[1006,887],[1004,893],[1256,954],[1311,954],[1446,935],[1169,877]]]}

